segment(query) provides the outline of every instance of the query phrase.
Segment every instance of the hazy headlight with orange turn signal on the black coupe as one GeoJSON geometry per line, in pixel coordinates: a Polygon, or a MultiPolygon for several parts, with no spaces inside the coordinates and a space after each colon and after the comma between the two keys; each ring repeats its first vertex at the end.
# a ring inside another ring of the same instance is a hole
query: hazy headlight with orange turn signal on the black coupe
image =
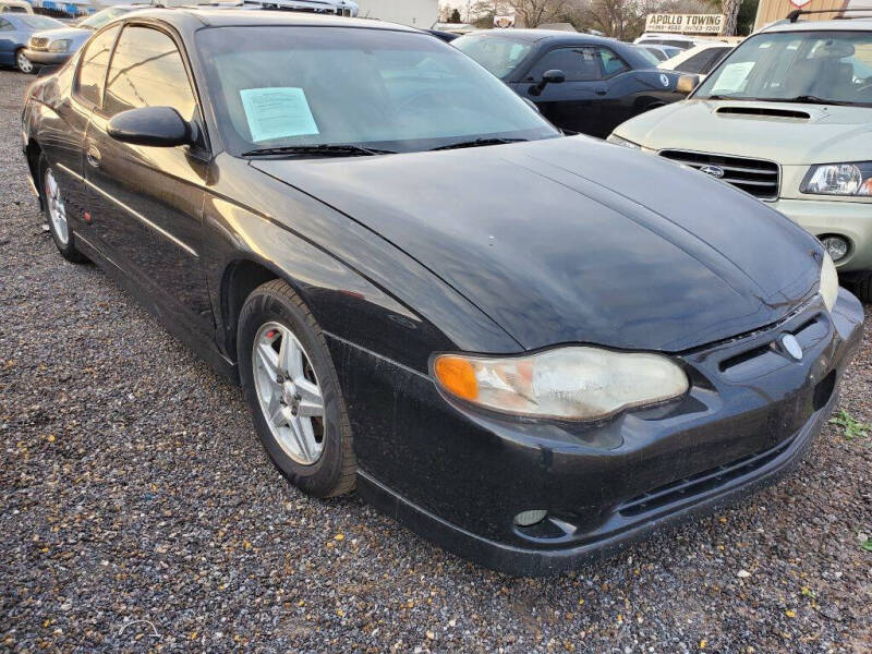
{"type": "Polygon", "coordinates": [[[516,415],[597,420],[688,390],[685,372],[666,356],[586,346],[530,356],[441,354],[433,374],[449,393],[516,415]]]}

